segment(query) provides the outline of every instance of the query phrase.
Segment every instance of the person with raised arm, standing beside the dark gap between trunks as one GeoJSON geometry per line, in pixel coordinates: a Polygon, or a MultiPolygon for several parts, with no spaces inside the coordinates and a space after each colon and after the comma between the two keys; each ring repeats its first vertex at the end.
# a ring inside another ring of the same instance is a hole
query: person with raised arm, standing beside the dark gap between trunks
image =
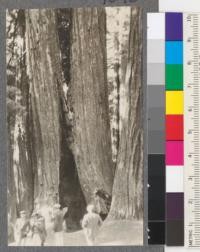
{"type": "Polygon", "coordinates": [[[64,215],[66,214],[67,208],[61,210],[60,204],[55,204],[52,212],[52,222],[53,222],[53,231],[55,234],[56,246],[64,245],[64,215]]]}

